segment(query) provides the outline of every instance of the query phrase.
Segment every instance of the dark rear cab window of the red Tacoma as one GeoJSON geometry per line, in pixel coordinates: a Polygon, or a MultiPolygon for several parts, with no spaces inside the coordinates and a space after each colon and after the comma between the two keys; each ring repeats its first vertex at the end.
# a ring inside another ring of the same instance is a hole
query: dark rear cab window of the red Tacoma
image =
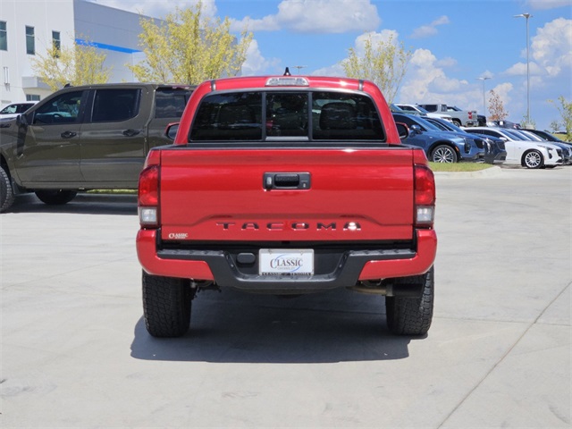
{"type": "Polygon", "coordinates": [[[374,101],[336,91],[214,93],[206,96],[189,133],[190,142],[385,141],[374,101]]]}

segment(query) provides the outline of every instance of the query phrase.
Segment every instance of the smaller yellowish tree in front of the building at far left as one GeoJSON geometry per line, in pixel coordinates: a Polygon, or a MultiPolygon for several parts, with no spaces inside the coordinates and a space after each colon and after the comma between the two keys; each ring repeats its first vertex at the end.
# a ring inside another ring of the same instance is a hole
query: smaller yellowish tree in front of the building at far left
{"type": "Polygon", "coordinates": [[[46,53],[37,54],[30,65],[34,74],[55,91],[68,83],[77,86],[107,82],[112,68],[104,66],[105,58],[90,42],[74,41],[71,47],[46,48],[46,53]]]}

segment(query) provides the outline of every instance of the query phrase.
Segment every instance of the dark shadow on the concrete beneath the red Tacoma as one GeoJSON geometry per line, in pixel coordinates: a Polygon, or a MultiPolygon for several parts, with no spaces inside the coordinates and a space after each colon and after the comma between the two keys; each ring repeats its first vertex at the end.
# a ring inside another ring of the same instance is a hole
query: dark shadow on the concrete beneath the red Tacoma
{"type": "Polygon", "coordinates": [[[381,296],[333,290],[298,298],[202,292],[193,301],[189,332],[150,336],[141,317],[131,356],[213,363],[335,363],[408,357],[423,337],[392,335],[381,296]]]}

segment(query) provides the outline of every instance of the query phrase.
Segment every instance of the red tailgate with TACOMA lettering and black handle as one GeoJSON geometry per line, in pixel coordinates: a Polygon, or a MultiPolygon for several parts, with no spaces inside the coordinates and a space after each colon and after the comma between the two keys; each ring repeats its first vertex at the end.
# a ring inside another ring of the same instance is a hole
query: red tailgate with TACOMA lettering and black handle
{"type": "Polygon", "coordinates": [[[408,147],[164,149],[161,238],[412,240],[412,164],[408,147]]]}

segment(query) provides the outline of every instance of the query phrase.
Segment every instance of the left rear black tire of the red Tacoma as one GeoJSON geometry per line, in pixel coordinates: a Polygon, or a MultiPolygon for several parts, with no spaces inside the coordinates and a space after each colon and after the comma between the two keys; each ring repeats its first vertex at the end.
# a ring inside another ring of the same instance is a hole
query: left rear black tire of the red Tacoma
{"type": "Polygon", "coordinates": [[[189,331],[193,292],[186,279],[143,272],[143,315],[154,337],[181,337],[189,331]]]}

